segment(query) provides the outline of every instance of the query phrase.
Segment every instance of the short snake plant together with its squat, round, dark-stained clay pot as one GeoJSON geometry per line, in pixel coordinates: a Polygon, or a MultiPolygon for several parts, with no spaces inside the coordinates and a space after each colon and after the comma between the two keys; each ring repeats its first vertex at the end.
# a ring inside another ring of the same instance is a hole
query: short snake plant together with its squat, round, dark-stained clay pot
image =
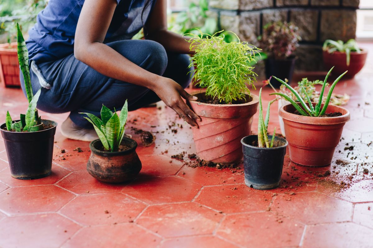
{"type": "Polygon", "coordinates": [[[141,161],[136,153],[137,142],[125,136],[128,109],[125,102],[119,116],[102,106],[101,119],[91,113],[81,113],[92,123],[98,138],[90,143],[91,156],[87,171],[94,178],[107,183],[122,183],[141,170],[141,161]]]}

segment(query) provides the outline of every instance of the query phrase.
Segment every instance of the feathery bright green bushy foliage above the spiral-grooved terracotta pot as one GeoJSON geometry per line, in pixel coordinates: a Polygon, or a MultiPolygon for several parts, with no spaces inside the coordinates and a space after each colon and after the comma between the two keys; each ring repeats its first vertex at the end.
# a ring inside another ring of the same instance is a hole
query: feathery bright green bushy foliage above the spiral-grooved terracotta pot
{"type": "Polygon", "coordinates": [[[198,86],[206,87],[207,96],[230,104],[250,94],[245,83],[254,87],[257,74],[250,63],[260,49],[239,39],[238,42],[227,43],[219,36],[220,32],[214,35],[201,32],[199,36],[192,36],[190,49],[195,54],[189,68],[195,66],[194,79],[198,86]]]}

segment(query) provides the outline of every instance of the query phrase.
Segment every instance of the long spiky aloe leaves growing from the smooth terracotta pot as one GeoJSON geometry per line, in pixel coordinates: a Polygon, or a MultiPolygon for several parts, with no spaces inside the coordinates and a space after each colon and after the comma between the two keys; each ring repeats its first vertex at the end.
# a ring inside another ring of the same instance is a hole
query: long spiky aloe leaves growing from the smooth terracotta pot
{"type": "Polygon", "coordinates": [[[321,104],[322,104],[322,100],[323,100],[323,96],[324,96],[324,90],[325,90],[325,86],[327,84],[327,78],[329,77],[330,73],[332,72],[334,67],[332,67],[329,72],[326,74],[326,77],[325,77],[325,80],[324,80],[324,83],[323,83],[323,86],[321,88],[321,92],[320,92],[320,97],[319,97],[319,102],[316,104],[316,106],[313,106],[311,100],[310,100],[310,97],[308,96],[305,88],[301,85],[301,89],[303,90],[303,92],[305,93],[305,97],[307,98],[307,102],[308,102],[308,106],[307,106],[307,103],[305,103],[305,101],[303,100],[303,98],[300,96],[300,94],[294,90],[294,88],[292,88],[289,84],[285,83],[283,80],[275,77],[275,76],[272,76],[273,78],[275,78],[277,81],[279,81],[280,83],[282,83],[283,85],[286,86],[286,88],[288,88],[292,94],[294,94],[294,96],[296,97],[296,99],[298,100],[298,102],[300,102],[301,106],[299,106],[293,99],[292,97],[289,97],[288,95],[285,95],[283,93],[280,93],[280,92],[275,92],[275,93],[271,93],[270,95],[278,95],[278,96],[281,96],[283,97],[284,99],[286,99],[288,102],[290,102],[294,107],[295,109],[298,110],[298,112],[303,115],[303,116],[311,116],[311,117],[319,117],[319,116],[322,116],[325,114],[326,112],[326,109],[327,109],[327,106],[329,105],[329,102],[330,102],[330,97],[332,96],[332,93],[333,93],[333,90],[334,90],[334,87],[336,86],[336,84],[338,83],[338,81],[343,77],[343,75],[345,75],[347,73],[347,71],[345,71],[344,73],[342,73],[341,75],[339,75],[338,78],[336,78],[336,80],[333,82],[332,86],[330,86],[330,89],[329,89],[329,92],[327,94],[327,97],[326,97],[326,100],[325,100],[325,103],[324,103],[324,106],[323,108],[321,109],[321,104]]]}

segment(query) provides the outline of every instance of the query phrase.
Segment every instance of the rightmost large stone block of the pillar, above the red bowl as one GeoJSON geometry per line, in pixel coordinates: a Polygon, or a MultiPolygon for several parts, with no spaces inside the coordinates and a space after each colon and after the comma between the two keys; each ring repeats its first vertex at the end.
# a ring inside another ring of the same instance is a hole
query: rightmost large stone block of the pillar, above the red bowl
{"type": "Polygon", "coordinates": [[[354,39],[356,33],[355,10],[323,10],[321,12],[320,39],[354,39]]]}

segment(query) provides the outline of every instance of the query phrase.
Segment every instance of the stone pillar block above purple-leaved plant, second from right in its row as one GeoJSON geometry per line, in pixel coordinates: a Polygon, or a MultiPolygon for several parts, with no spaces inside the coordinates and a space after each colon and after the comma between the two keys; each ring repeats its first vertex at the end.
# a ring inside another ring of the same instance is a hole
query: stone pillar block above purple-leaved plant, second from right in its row
{"type": "Polygon", "coordinates": [[[317,16],[316,10],[291,10],[290,20],[298,26],[303,41],[316,41],[317,16]]]}

